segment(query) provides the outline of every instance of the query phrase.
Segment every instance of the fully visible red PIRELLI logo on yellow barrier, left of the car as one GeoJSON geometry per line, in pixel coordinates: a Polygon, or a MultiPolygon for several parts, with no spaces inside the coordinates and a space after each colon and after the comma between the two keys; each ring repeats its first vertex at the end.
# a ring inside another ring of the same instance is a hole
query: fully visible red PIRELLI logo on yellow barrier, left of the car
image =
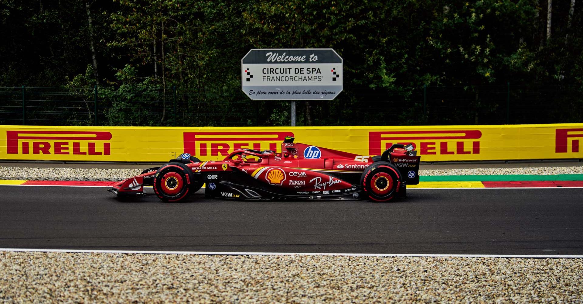
{"type": "Polygon", "coordinates": [[[110,132],[6,131],[6,153],[111,155],[110,132]]]}

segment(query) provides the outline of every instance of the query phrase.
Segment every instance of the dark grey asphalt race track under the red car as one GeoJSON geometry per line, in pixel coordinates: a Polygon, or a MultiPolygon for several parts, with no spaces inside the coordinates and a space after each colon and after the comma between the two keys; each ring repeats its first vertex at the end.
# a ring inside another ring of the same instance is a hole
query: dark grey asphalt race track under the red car
{"type": "Polygon", "coordinates": [[[104,187],[0,186],[0,248],[583,254],[583,188],[419,188],[384,204],[208,200],[202,191],[166,204],[120,201],[104,187]]]}

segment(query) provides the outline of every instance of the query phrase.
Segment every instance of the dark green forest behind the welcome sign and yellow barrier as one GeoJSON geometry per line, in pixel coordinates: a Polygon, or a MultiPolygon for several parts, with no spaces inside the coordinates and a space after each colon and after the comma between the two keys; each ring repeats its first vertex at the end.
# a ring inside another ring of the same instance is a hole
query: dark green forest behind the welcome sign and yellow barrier
{"type": "Polygon", "coordinates": [[[0,124],[289,125],[290,102],[241,91],[251,48],[343,58],[343,92],[297,125],[581,122],[582,5],[0,0],[0,124]]]}

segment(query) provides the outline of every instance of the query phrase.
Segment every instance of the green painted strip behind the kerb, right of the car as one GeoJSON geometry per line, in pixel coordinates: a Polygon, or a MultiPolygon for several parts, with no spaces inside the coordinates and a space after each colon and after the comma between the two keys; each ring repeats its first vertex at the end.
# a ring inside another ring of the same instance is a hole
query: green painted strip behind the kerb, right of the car
{"type": "Polygon", "coordinates": [[[583,180],[583,174],[557,175],[431,175],[419,176],[420,181],[546,181],[546,180],[583,180]]]}

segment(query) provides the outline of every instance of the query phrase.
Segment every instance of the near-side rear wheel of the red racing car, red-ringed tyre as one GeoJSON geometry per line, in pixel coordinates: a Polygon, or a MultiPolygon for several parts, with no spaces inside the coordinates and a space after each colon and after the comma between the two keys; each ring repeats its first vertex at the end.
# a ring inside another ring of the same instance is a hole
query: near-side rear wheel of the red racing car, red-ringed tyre
{"type": "Polygon", "coordinates": [[[360,186],[372,201],[391,201],[401,186],[401,174],[392,163],[374,162],[364,170],[360,186]]]}

